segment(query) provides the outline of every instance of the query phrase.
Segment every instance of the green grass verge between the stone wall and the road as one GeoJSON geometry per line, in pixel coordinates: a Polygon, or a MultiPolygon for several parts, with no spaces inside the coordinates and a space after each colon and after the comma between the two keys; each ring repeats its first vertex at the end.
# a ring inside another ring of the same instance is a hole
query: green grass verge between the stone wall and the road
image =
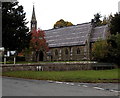
{"type": "Polygon", "coordinates": [[[112,70],[87,70],[87,71],[11,71],[3,72],[3,76],[54,80],[66,82],[120,82],[118,72],[120,69],[112,70]]]}

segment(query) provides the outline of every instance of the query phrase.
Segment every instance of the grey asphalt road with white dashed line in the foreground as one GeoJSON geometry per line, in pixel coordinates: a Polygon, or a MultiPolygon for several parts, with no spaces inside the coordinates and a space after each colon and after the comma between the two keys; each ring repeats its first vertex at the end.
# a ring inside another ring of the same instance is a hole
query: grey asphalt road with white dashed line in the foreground
{"type": "Polygon", "coordinates": [[[118,96],[118,84],[2,78],[2,96],[118,96]]]}

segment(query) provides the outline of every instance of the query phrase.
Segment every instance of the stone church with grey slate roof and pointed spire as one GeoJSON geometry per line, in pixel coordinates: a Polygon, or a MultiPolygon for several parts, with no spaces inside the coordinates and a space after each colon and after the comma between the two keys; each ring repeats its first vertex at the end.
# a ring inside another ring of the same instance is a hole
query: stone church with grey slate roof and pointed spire
{"type": "MultiPolygon", "coordinates": [[[[31,30],[34,28],[37,28],[37,20],[33,6],[31,30]]],[[[94,27],[91,22],[45,30],[49,52],[43,51],[43,55],[38,55],[43,61],[90,60],[93,43],[98,39],[106,39],[107,32],[107,25],[94,27]]]]}

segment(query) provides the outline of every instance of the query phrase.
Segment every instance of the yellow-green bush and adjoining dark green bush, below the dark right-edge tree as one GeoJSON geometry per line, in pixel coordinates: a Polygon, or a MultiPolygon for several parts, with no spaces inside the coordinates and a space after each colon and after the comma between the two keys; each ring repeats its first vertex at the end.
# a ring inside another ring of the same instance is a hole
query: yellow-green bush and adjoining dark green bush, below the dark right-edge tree
{"type": "Polygon", "coordinates": [[[92,48],[92,56],[98,61],[120,65],[120,34],[111,35],[107,40],[95,42],[92,48]]]}

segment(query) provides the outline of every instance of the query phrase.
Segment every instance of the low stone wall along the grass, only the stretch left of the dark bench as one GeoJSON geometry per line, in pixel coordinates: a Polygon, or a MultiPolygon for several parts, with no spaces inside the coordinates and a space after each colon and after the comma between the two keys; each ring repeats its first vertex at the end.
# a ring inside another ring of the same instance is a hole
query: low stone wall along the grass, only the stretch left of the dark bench
{"type": "Polygon", "coordinates": [[[91,64],[84,63],[40,63],[40,64],[3,64],[2,71],[64,71],[90,70],[91,64]]]}

